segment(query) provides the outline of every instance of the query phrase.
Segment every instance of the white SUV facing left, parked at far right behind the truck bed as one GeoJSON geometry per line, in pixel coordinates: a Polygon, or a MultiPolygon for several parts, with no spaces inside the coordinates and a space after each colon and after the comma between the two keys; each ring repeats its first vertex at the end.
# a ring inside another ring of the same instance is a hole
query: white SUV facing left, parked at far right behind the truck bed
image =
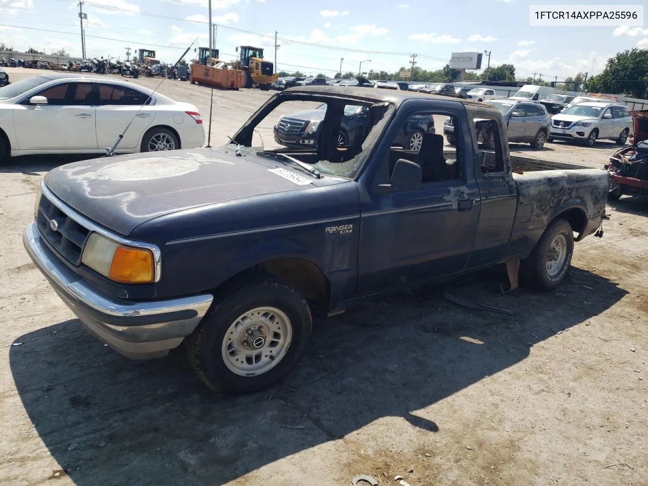
{"type": "Polygon", "coordinates": [[[632,117],[627,106],[608,101],[575,104],[551,117],[552,139],[579,141],[594,146],[597,139],[614,140],[624,145],[631,136],[632,117]]]}

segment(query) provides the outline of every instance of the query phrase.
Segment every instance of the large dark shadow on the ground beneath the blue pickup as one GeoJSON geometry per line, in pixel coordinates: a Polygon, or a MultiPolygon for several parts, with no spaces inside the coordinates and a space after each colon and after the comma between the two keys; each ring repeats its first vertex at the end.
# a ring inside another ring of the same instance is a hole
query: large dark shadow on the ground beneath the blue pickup
{"type": "Polygon", "coordinates": [[[209,393],[180,351],[134,362],[76,320],[52,325],[44,318],[10,350],[19,397],[62,468],[43,472],[43,480],[51,474],[78,486],[224,484],[382,417],[402,417],[412,437],[443,434],[452,424],[421,409],[521,362],[533,345],[586,325],[627,294],[578,269],[547,293],[502,295],[501,277],[492,270],[319,319],[295,371],[244,397],[209,393]],[[514,314],[467,310],[441,291],[514,314]]]}

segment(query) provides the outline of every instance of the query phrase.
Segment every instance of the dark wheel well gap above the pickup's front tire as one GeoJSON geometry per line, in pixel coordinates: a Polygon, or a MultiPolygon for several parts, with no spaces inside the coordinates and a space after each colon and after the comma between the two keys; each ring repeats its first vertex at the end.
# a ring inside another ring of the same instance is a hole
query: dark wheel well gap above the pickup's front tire
{"type": "Polygon", "coordinates": [[[244,275],[249,273],[269,273],[294,286],[308,301],[329,304],[329,281],[319,267],[308,260],[300,258],[267,260],[247,268],[230,280],[244,278],[244,275]]]}

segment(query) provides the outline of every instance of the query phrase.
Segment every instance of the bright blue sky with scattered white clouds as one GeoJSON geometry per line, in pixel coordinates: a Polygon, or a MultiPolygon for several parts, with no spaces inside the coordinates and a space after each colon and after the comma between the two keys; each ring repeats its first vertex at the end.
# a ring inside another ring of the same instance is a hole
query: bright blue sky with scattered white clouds
{"type": "MultiPolygon", "coordinates": [[[[561,80],[577,71],[599,73],[618,51],[648,49],[645,27],[529,27],[529,5],[536,3],[212,0],[212,16],[219,24],[216,47],[222,59],[233,58],[235,46],[251,44],[266,48],[266,58],[273,60],[277,30],[279,69],[312,74],[332,75],[340,69],[341,58],[343,71],[358,71],[360,61],[362,71],[395,71],[408,64],[411,53],[418,54],[419,67],[439,69],[451,52],[487,49],[492,51],[491,65],[512,62],[520,77],[542,73],[543,79],[561,80]]],[[[577,3],[612,2],[570,2],[577,3]]],[[[196,37],[198,44],[207,45],[208,29],[202,23],[207,20],[207,0],[89,0],[84,11],[91,57],[124,58],[125,47],[150,47],[158,58],[172,62],[196,37]]],[[[0,41],[16,50],[32,46],[52,52],[63,47],[80,56],[79,32],[73,0],[0,0],[0,41]]]]}

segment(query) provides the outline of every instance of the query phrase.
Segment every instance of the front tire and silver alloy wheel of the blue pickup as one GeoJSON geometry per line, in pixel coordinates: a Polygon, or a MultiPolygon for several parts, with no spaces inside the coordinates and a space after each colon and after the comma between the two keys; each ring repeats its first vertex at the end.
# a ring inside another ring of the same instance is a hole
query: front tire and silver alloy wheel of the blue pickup
{"type": "Polygon", "coordinates": [[[185,350],[207,387],[232,394],[253,393],[292,371],[304,354],[311,329],[303,295],[269,275],[259,275],[239,281],[216,301],[185,341],[185,350]],[[270,335],[273,340],[267,339],[270,335]],[[272,351],[279,359],[271,357],[272,351]]]}

